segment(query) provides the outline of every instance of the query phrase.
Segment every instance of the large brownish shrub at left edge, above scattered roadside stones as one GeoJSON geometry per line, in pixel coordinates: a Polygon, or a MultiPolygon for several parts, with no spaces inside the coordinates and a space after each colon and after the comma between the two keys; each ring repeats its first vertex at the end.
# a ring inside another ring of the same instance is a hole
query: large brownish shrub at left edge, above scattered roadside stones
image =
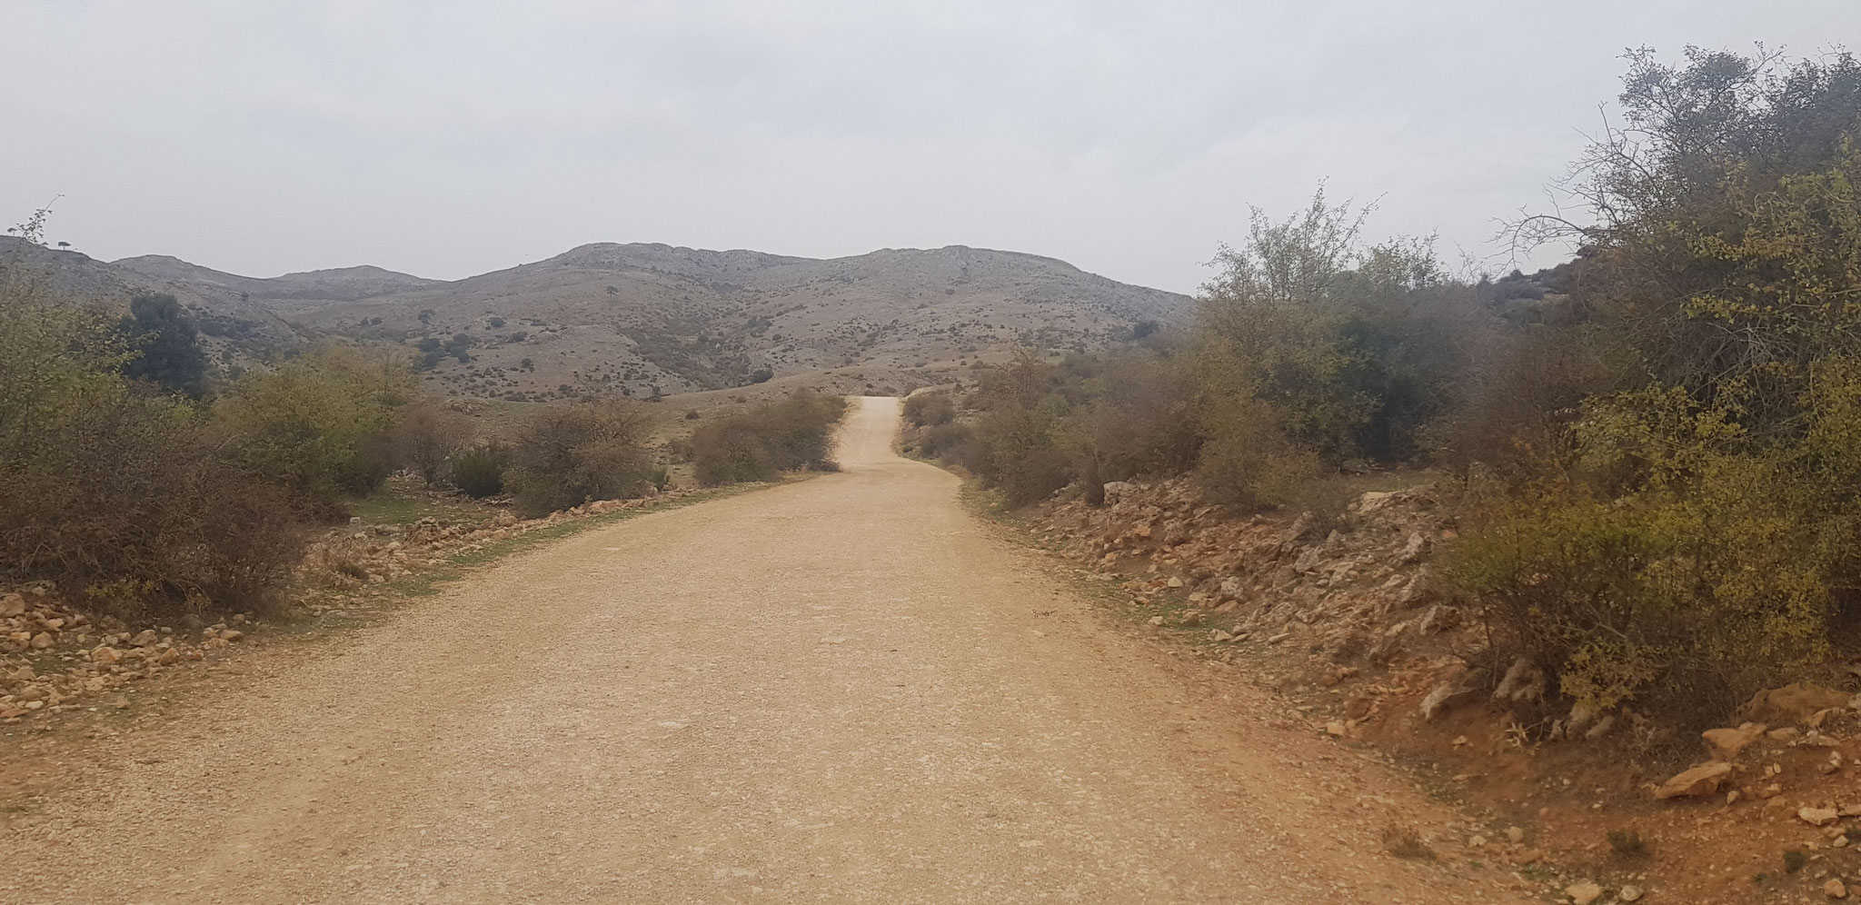
{"type": "Polygon", "coordinates": [[[268,605],[301,549],[285,493],[136,393],[108,318],[6,272],[0,304],[0,572],[117,615],[268,605]]]}

